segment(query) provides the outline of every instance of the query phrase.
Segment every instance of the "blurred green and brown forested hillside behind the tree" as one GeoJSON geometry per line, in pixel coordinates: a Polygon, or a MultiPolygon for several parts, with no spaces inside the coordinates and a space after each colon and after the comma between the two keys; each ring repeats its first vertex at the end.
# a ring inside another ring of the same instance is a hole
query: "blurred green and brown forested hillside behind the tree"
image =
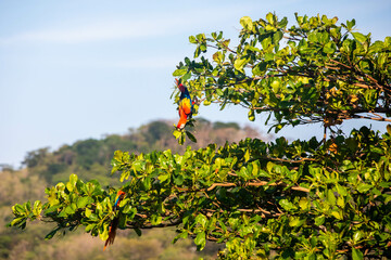
{"type": "MultiPolygon", "coordinates": [[[[148,153],[167,150],[181,153],[186,145],[178,145],[172,135],[173,122],[152,121],[126,134],[106,134],[102,139],[77,141],[55,151],[49,147],[28,152],[22,170],[4,169],[0,172],[0,259],[211,259],[218,247],[209,245],[202,252],[195,251],[191,239],[172,245],[173,229],[144,232],[138,237],[131,231],[119,231],[115,244],[102,253],[103,243],[99,238],[75,231],[66,237],[58,236],[45,242],[50,225],[34,223],[26,231],[5,229],[11,220],[10,207],[24,200],[41,199],[47,186],[67,181],[71,173],[83,180],[98,180],[103,186],[115,185],[117,178],[111,178],[110,160],[116,150],[148,153]],[[131,253],[131,255],[129,255],[131,253]]],[[[193,148],[209,143],[224,144],[226,140],[238,142],[244,138],[260,138],[253,128],[240,128],[235,122],[210,122],[198,119],[195,130],[198,143],[193,148]]]]}

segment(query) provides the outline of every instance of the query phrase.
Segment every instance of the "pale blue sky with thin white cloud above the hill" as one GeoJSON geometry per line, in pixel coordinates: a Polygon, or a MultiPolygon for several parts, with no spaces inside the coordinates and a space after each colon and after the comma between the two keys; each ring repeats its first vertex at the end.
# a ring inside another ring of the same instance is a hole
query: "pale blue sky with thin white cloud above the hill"
{"type": "MultiPolygon", "coordinates": [[[[0,1],[0,164],[17,167],[39,147],[177,119],[172,73],[192,56],[188,37],[223,30],[236,39],[240,17],[268,12],[290,23],[294,12],[355,18],[374,39],[391,35],[389,0],[0,1]]],[[[250,123],[236,107],[201,107],[200,116],[250,123]]],[[[266,129],[261,120],[251,126],[266,129]]],[[[306,139],[321,129],[280,134],[306,139]]]]}

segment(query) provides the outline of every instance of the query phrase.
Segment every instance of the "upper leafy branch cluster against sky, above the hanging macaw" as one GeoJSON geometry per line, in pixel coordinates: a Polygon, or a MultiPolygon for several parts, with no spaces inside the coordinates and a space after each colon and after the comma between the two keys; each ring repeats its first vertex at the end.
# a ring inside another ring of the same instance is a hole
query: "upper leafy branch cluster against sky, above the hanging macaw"
{"type": "MultiPolygon", "coordinates": [[[[371,42],[370,34],[354,31],[355,21],[337,25],[338,18],[295,14],[297,25],[272,13],[266,20],[244,16],[236,49],[223,32],[190,37],[194,57],[185,58],[174,76],[189,80],[192,93],[204,105],[239,104],[255,114],[269,113],[273,126],[325,122],[343,119],[388,120],[390,116],[391,37],[371,42]],[[362,115],[370,112],[373,115],[362,115]]],[[[270,118],[270,117],[269,117],[270,118]]]]}

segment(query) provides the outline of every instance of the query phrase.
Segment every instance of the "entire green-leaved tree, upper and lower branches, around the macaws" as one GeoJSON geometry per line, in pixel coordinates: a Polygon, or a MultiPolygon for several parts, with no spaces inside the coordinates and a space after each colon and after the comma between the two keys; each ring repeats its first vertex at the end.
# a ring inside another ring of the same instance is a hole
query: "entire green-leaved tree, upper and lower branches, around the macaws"
{"type": "MultiPolygon", "coordinates": [[[[325,15],[297,14],[290,27],[273,13],[240,24],[236,47],[223,32],[190,36],[194,56],[173,75],[195,110],[240,105],[250,120],[269,114],[276,132],[321,122],[323,140],[244,139],[182,154],[116,151],[112,172],[121,187],[72,174],[46,190],[47,202],[15,205],[10,225],[56,223],[47,238],[81,225],[103,240],[113,219],[139,235],[176,226],[174,242],[192,237],[200,250],[206,240],[225,244],[220,259],[391,257],[391,129],[337,128],[354,118],[391,121],[391,38],[373,42],[354,20],[338,24],[325,15]],[[118,190],[126,195],[114,210],[118,190]]],[[[180,143],[186,135],[195,141],[193,120],[174,131],[180,143]]]]}

